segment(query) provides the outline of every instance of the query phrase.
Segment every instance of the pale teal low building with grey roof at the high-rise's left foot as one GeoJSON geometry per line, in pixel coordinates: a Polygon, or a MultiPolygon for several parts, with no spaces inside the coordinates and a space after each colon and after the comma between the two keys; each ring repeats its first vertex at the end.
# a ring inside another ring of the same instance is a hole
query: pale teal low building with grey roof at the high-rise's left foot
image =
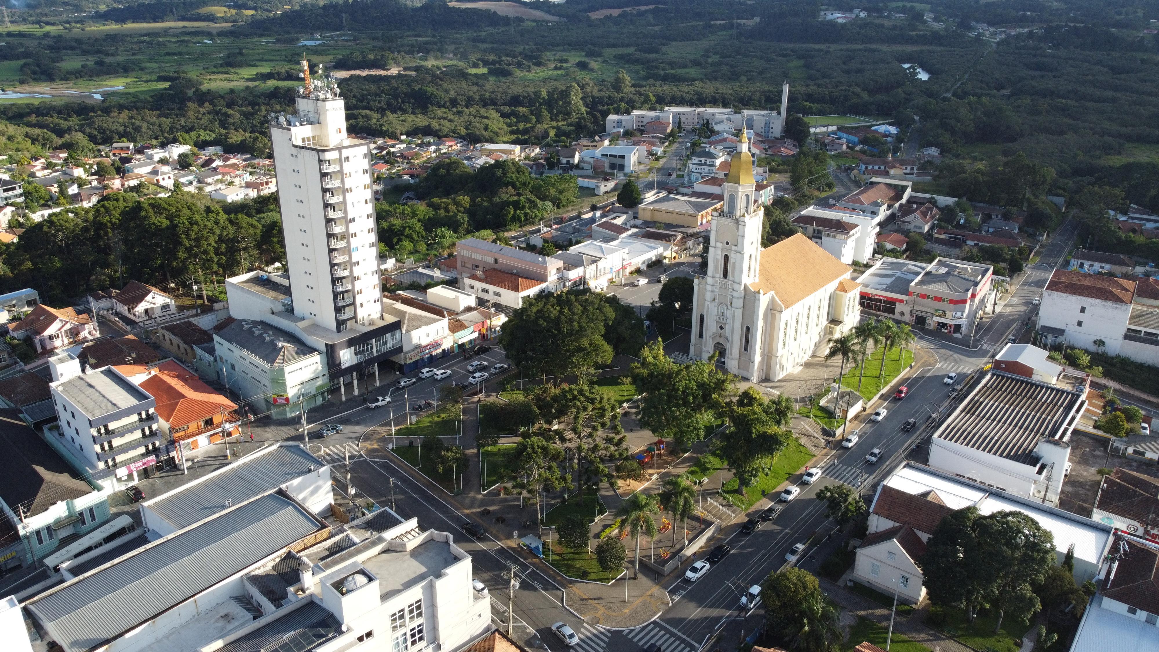
{"type": "Polygon", "coordinates": [[[213,333],[213,348],[217,381],[241,396],[252,413],[287,419],[329,398],[327,357],[286,331],[238,319],[213,333]]]}

